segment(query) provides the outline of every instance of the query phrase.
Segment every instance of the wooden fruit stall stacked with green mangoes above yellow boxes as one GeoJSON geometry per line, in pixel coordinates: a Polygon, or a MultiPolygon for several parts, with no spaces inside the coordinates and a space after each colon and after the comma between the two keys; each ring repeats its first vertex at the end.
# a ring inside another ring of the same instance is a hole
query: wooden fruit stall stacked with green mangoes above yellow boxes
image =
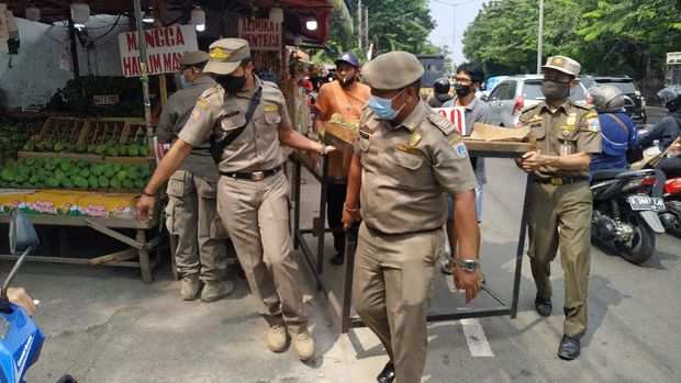
{"type": "Polygon", "coordinates": [[[154,162],[148,139],[138,120],[48,117],[40,133],[22,145],[16,159],[5,160],[0,168],[0,223],[8,223],[9,213],[19,209],[35,225],[89,227],[130,249],[92,259],[67,257],[66,229],[59,229],[64,244],[58,257],[32,259],[135,267],[150,282],[158,257],[150,261],[149,252],[160,249],[164,235],[147,239],[158,217],[138,223],[134,216],[136,195],[154,162]],[[120,229],[136,234],[131,238],[120,229]]]}

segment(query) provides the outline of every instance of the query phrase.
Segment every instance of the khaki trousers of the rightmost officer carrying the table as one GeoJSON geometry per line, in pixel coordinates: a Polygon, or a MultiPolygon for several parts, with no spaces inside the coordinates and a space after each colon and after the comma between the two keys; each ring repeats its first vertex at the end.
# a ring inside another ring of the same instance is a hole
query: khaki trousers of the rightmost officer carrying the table
{"type": "Polygon", "coordinates": [[[560,246],[565,272],[565,335],[581,338],[587,331],[587,294],[591,263],[591,191],[587,182],[552,185],[531,182],[529,262],[537,294],[552,294],[550,262],[560,246]],[[560,230],[559,230],[560,228],[560,230]]]}

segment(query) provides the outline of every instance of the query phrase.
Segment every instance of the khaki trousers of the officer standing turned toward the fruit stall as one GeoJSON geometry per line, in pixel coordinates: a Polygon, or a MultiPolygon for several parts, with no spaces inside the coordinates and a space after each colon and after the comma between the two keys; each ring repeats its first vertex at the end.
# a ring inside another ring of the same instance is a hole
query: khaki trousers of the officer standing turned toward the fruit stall
{"type": "Polygon", "coordinates": [[[227,268],[227,234],[216,211],[217,172],[178,170],[168,180],[166,226],[178,236],[175,259],[180,275],[222,281],[227,268]]]}

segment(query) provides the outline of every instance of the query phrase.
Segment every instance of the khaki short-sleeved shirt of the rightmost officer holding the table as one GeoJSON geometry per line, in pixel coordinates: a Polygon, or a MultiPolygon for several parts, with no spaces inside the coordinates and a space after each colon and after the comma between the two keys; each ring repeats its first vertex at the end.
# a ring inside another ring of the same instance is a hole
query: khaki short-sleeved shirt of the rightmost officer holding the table
{"type": "MultiPolygon", "coordinates": [[[[601,127],[599,115],[591,105],[582,105],[567,100],[555,113],[546,102],[523,111],[518,122],[529,127],[531,138],[536,138],[536,148],[542,154],[560,156],[561,146],[566,154],[601,153],[601,127]]],[[[589,177],[589,169],[559,170],[555,167],[542,167],[535,171],[539,178],[554,176],[589,177]]]]}

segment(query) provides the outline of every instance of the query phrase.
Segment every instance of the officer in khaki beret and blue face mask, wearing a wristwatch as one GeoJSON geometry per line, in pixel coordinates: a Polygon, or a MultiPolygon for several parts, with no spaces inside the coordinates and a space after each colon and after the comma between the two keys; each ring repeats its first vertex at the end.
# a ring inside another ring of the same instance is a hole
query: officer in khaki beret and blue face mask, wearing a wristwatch
{"type": "Polygon", "coordinates": [[[444,244],[444,193],[456,201],[460,223],[455,284],[466,290],[467,302],[480,291],[477,181],[456,127],[418,97],[424,69],[414,55],[387,53],[361,72],[371,97],[343,214],[347,229],[361,206],[353,303],[390,357],[378,382],[397,376],[399,383],[417,383],[426,360],[428,295],[444,244]]]}

